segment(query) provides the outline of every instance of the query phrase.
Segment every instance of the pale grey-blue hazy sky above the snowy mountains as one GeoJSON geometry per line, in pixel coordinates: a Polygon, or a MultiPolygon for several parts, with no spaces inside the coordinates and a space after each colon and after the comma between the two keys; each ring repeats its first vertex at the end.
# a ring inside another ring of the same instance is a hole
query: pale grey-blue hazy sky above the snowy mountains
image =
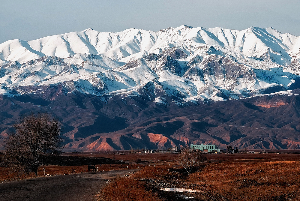
{"type": "Polygon", "coordinates": [[[193,27],[273,27],[300,36],[300,1],[279,0],[0,0],[0,43],[82,31],[158,31],[193,27]]]}

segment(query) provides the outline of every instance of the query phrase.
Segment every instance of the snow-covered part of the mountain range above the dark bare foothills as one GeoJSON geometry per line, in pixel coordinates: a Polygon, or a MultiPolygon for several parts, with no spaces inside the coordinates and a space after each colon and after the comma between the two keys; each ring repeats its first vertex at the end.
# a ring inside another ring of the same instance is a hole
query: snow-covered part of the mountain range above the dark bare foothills
{"type": "Polygon", "coordinates": [[[1,93],[72,81],[86,94],[115,95],[155,82],[184,101],[245,98],[288,90],[299,58],[300,37],[273,28],[86,29],[0,44],[1,93]]]}

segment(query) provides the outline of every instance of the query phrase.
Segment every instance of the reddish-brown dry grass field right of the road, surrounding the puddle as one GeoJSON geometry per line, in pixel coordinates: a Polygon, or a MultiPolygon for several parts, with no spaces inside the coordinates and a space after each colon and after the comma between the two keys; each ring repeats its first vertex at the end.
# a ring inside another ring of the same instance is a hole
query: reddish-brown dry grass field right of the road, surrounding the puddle
{"type": "MultiPolygon", "coordinates": [[[[147,187],[142,189],[144,193],[154,193],[164,200],[300,200],[299,154],[208,154],[208,161],[190,175],[178,165],[169,165],[174,155],[169,156],[165,164],[157,160],[155,167],[151,164],[129,178],[119,178],[112,182],[101,191],[99,200],[137,200],[135,197],[141,192],[135,194],[135,190],[131,191],[132,199],[128,199],[123,194],[114,195],[112,189],[124,188],[130,191],[139,186],[147,187]],[[159,190],[170,187],[204,192],[159,190]]],[[[134,158],[134,155],[131,157],[134,158]]],[[[155,154],[149,157],[145,155],[144,160],[151,158],[150,161],[154,163],[154,157],[155,154]]],[[[157,159],[162,157],[158,156],[157,159]]]]}

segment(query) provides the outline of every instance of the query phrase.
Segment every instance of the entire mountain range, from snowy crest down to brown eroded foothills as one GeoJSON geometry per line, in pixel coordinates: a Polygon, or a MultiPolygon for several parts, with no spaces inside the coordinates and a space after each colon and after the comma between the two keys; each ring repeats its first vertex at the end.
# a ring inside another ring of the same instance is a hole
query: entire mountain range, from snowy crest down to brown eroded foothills
{"type": "Polygon", "coordinates": [[[190,143],[300,149],[299,39],[273,28],[182,25],[6,41],[0,111],[8,119],[0,143],[30,108],[58,114],[69,151],[190,143]],[[261,137],[253,140],[257,129],[261,137]]]}

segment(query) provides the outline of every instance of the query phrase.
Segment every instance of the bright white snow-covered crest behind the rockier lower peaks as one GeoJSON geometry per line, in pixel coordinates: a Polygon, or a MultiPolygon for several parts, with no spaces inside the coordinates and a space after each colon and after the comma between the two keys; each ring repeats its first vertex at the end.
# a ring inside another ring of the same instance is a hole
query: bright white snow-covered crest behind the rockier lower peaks
{"type": "Polygon", "coordinates": [[[185,52],[197,52],[201,44],[218,46],[230,54],[244,57],[269,58],[278,64],[289,64],[290,54],[297,54],[300,47],[299,37],[282,34],[273,28],[250,27],[237,31],[182,25],[158,32],[131,28],[117,33],[100,33],[89,28],[34,41],[6,41],[0,44],[0,59],[24,63],[45,55],[67,58],[77,53],[89,53],[127,61],[126,58],[134,55],[141,57],[151,52],[161,53],[174,46],[185,52]]]}

